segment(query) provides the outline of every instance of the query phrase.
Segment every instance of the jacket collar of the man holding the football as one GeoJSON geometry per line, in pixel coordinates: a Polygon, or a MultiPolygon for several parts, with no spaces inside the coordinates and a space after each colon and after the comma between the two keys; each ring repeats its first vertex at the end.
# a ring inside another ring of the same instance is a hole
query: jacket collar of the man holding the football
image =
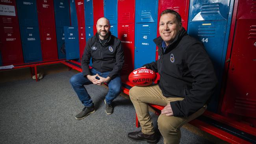
{"type": "MultiPolygon", "coordinates": [[[[175,39],[173,40],[173,42],[171,44],[169,44],[169,46],[167,46],[166,50],[169,50],[170,47],[173,47],[174,45],[178,44],[180,42],[180,40],[182,39],[182,37],[184,37],[185,35],[187,35],[187,31],[185,30],[184,27],[182,27],[182,29],[180,30],[180,32],[178,33],[178,35],[175,37],[175,39]]],[[[158,46],[158,48],[162,51],[163,54],[163,49],[161,47],[163,39],[161,37],[157,37],[156,39],[153,40],[155,42],[155,44],[158,46]]]]}

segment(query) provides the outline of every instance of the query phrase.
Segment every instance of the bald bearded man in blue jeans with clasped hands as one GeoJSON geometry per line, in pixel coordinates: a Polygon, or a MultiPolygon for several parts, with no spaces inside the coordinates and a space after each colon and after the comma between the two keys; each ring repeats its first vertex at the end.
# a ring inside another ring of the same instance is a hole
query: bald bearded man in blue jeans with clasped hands
{"type": "Polygon", "coordinates": [[[120,72],[124,63],[124,54],[121,41],[111,35],[110,24],[107,18],[99,18],[96,24],[97,33],[86,42],[81,61],[83,72],[70,78],[70,84],[78,98],[85,106],[76,115],[77,120],[85,118],[95,112],[95,107],[91,97],[83,85],[108,84],[108,94],[105,96],[106,113],[113,113],[112,101],[121,92],[120,72]],[[89,69],[90,59],[92,58],[92,69],[89,69]]]}

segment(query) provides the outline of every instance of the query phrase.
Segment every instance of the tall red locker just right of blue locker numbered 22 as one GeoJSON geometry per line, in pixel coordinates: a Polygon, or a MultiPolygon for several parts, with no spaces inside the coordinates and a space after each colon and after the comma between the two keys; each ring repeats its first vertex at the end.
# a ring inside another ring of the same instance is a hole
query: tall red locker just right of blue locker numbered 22
{"type": "Polygon", "coordinates": [[[58,59],[53,0],[37,0],[43,61],[58,59]]]}

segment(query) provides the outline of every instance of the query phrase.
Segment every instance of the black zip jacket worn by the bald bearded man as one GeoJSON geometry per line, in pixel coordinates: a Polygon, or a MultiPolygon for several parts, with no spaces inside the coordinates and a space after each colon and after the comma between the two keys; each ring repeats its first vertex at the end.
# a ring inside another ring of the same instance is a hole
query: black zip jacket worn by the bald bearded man
{"type": "Polygon", "coordinates": [[[124,63],[121,41],[117,37],[111,35],[110,31],[108,40],[105,44],[100,43],[98,33],[89,39],[86,42],[81,62],[83,76],[91,74],[89,70],[91,57],[93,68],[100,72],[111,71],[108,76],[113,78],[113,76],[120,74],[124,63]]]}

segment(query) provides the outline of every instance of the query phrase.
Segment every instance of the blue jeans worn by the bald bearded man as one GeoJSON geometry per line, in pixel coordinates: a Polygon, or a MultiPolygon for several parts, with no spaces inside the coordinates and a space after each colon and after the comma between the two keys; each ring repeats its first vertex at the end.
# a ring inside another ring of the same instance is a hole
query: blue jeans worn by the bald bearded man
{"type": "MultiPolygon", "coordinates": [[[[109,74],[109,72],[101,73],[101,72],[95,70],[94,68],[92,68],[90,71],[91,71],[92,76],[98,74],[99,76],[101,76],[103,78],[107,78],[108,74],[109,74]]],[[[96,77],[96,78],[98,78],[98,77],[96,77]]],[[[88,94],[87,90],[85,89],[85,87],[83,85],[89,85],[89,84],[93,84],[93,83],[91,81],[89,81],[89,79],[84,77],[82,72],[72,76],[69,81],[70,81],[72,88],[76,92],[79,100],[83,103],[83,105],[85,107],[92,106],[93,101],[91,100],[91,96],[88,94]]],[[[121,82],[120,76],[117,76],[108,82],[109,91],[105,97],[107,104],[110,104],[117,96],[119,96],[119,94],[121,92],[121,86],[122,86],[122,82],[121,82]]]]}

